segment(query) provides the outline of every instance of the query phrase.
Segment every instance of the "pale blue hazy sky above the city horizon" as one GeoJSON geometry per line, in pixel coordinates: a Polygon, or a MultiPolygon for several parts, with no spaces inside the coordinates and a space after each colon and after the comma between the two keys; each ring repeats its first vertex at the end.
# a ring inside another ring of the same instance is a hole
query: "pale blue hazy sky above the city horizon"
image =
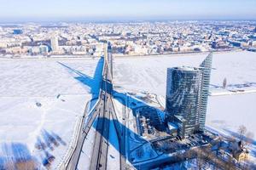
{"type": "Polygon", "coordinates": [[[0,4],[0,20],[256,20],[256,0],[0,0],[0,4]]]}

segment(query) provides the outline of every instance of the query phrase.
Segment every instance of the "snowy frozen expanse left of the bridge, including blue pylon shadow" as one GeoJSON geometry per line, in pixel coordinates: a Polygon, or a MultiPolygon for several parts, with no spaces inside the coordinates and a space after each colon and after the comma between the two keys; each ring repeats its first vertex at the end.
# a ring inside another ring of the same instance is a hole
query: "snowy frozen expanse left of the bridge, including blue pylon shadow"
{"type": "Polygon", "coordinates": [[[51,167],[58,166],[97,92],[98,61],[0,59],[0,169],[20,160],[42,166],[51,156],[51,167]]]}

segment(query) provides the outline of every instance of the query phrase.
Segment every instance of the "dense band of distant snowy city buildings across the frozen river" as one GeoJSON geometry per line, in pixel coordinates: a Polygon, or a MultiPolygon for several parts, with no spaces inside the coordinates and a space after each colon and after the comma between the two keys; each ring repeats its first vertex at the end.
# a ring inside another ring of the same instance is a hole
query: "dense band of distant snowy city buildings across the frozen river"
{"type": "Polygon", "coordinates": [[[37,52],[37,47],[46,44],[52,49],[48,55],[102,56],[104,41],[111,42],[113,55],[119,56],[254,51],[255,38],[253,21],[2,24],[0,54],[41,54],[31,53],[31,49],[37,52]]]}

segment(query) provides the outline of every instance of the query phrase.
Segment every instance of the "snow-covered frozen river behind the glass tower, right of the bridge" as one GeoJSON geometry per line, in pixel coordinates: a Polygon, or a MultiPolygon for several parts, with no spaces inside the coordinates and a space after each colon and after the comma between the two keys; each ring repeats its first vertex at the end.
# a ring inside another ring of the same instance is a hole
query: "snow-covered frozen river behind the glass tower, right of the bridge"
{"type": "MultiPolygon", "coordinates": [[[[115,58],[113,79],[116,86],[127,90],[148,91],[166,95],[166,69],[174,66],[199,66],[207,54],[161,55],[115,58]]],[[[213,54],[212,87],[256,82],[256,53],[226,52],[213,54]]],[[[256,88],[256,87],[255,87],[256,88]]]]}

